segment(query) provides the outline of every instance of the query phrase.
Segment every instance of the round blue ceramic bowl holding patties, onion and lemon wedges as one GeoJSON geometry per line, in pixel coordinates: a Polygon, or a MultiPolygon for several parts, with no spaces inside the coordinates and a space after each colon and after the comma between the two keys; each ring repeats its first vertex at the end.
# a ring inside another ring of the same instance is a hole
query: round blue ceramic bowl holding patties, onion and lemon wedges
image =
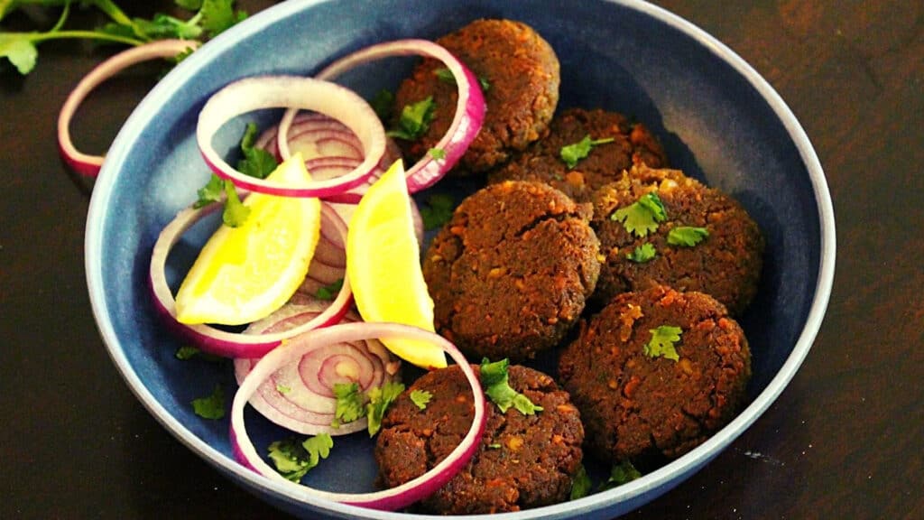
{"type": "MultiPolygon", "coordinates": [[[[696,450],[616,489],[500,518],[604,518],[652,500],[707,464],[783,391],[808,353],[828,303],[834,220],[818,158],[767,82],[710,35],[642,2],[504,0],[292,0],[225,32],[161,80],[118,134],[93,191],[87,279],[103,340],[140,401],[177,439],[237,483],[307,518],[409,518],[293,496],[237,464],[225,421],[189,402],[220,383],[227,365],[179,362],[179,342],[155,316],[147,270],[152,244],[208,178],[194,139],[197,113],[227,82],[264,73],[311,74],[334,56],[396,38],[436,38],[472,19],[519,19],[539,31],[562,65],[560,106],[601,106],[645,122],[675,167],[731,193],[763,230],[768,249],[756,302],[742,319],[754,357],[748,406],[696,450]]],[[[349,81],[362,93],[394,87],[408,64],[373,65],[349,81]]],[[[274,114],[257,114],[271,118],[274,114]]],[[[239,134],[238,134],[239,135],[239,134]]],[[[219,139],[223,139],[219,136],[219,139]]],[[[233,137],[224,143],[233,147],[233,137]]],[[[191,246],[205,240],[193,233],[191,246]]],[[[170,278],[176,279],[173,266],[170,278]]],[[[258,445],[281,432],[249,417],[258,445]]],[[[312,486],[372,488],[363,436],[337,440],[312,486]],[[348,468],[348,469],[346,469],[348,468]],[[348,473],[347,473],[348,472],[348,473]]]]}

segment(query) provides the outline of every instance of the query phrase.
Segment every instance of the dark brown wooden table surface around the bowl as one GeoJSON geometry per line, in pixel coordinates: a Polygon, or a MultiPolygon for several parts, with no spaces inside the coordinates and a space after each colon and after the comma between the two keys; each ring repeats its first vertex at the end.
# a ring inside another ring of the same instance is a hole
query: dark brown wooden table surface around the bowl
{"type": "MultiPolygon", "coordinates": [[[[712,464],[627,517],[924,518],[924,4],[657,3],[736,50],[802,121],[838,254],[821,333],[783,395],[712,464]]],[[[172,5],[120,4],[140,16],[172,5]]],[[[47,43],[28,77],[0,73],[0,517],[280,517],[148,415],[93,324],[91,182],[62,165],[55,118],[104,56],[47,43]]],[[[75,122],[79,146],[102,152],[155,81],[142,67],[106,83],[75,122]]]]}

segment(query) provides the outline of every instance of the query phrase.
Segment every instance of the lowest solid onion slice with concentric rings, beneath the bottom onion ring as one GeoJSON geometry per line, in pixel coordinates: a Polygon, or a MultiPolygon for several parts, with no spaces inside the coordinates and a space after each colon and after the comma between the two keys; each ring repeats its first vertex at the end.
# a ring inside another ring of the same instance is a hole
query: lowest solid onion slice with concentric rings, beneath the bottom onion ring
{"type": "MultiPolygon", "coordinates": [[[[296,328],[320,315],[327,303],[307,299],[288,303],[272,315],[250,324],[245,334],[269,334],[296,328]]],[[[341,323],[360,321],[355,313],[347,313],[341,323]]],[[[244,382],[259,358],[238,358],[234,361],[237,384],[244,382]]],[[[368,425],[365,416],[358,420],[334,424],[336,383],[356,383],[366,392],[396,379],[401,363],[375,339],[318,346],[300,359],[280,366],[250,396],[250,405],[275,424],[292,431],[317,435],[346,435],[368,425]]]]}

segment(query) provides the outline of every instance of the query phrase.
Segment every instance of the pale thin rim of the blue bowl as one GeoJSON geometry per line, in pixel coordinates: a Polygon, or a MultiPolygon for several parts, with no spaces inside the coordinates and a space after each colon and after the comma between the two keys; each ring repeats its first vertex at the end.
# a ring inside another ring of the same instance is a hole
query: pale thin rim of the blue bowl
{"type": "MultiPolygon", "coordinates": [[[[270,479],[261,477],[241,464],[237,464],[237,462],[225,456],[224,453],[219,452],[213,448],[213,446],[201,440],[187,427],[184,427],[153,397],[151,391],[143,385],[140,377],[128,362],[128,357],[121,347],[121,341],[116,336],[115,328],[108,317],[110,316],[110,309],[105,301],[103,291],[103,286],[105,285],[102,274],[103,262],[100,255],[94,254],[94,252],[102,249],[102,222],[105,216],[105,205],[108,203],[109,196],[112,193],[116,181],[118,165],[124,161],[125,156],[128,154],[128,146],[123,145],[123,143],[130,142],[132,136],[137,135],[144,127],[146,118],[143,114],[146,112],[146,108],[163,104],[165,98],[169,97],[169,95],[176,90],[176,86],[181,83],[181,80],[184,80],[186,76],[192,73],[193,68],[197,67],[200,63],[205,64],[213,60],[222,52],[222,49],[225,49],[221,43],[246,39],[281,19],[286,19],[310,6],[322,4],[325,1],[327,0],[296,0],[285,2],[270,6],[249,19],[244,20],[232,31],[226,31],[215,38],[216,43],[203,45],[195,54],[180,63],[173,71],[167,74],[164,79],[160,80],[158,84],[154,86],[152,91],[145,96],[138,107],[132,112],[132,115],[129,116],[125,125],[118,132],[110,150],[110,154],[107,155],[107,159],[103,163],[103,168],[93,189],[88,210],[84,258],[91,310],[96,320],[97,328],[103,338],[106,350],[122,378],[124,378],[128,384],[128,388],[135,394],[136,398],[177,440],[185,444],[191,451],[198,453],[217,469],[224,471],[226,475],[247,482],[254,489],[263,489],[271,495],[274,495],[274,498],[279,501],[290,504],[305,503],[311,507],[322,510],[325,514],[390,520],[440,518],[439,516],[426,514],[375,511],[334,501],[327,501],[311,495],[296,496],[286,487],[270,479]]],[[[808,355],[808,351],[821,328],[821,322],[831,297],[836,252],[834,212],[831,194],[824,177],[821,162],[811,142],[808,140],[808,135],[805,130],[803,130],[788,105],[785,104],[783,98],[772,88],[767,80],[764,80],[763,77],[760,76],[760,73],[758,73],[756,69],[748,65],[748,63],[741,56],[738,56],[735,51],[687,19],[683,19],[663,7],[653,6],[642,0],[600,0],[600,2],[635,10],[642,15],[646,15],[656,21],[666,24],[676,31],[684,33],[691,40],[708,49],[713,56],[734,68],[748,81],[748,84],[753,89],[760,93],[760,96],[770,106],[774,115],[783,123],[785,130],[796,145],[796,149],[804,166],[808,170],[815,203],[818,206],[821,234],[818,278],[816,279],[815,292],[805,326],[802,328],[793,351],[787,356],[784,365],[780,367],[776,375],[768,382],[767,387],[755,397],[753,402],[750,402],[750,404],[736,415],[728,425],[713,434],[708,440],[674,461],[623,486],[594,493],[575,501],[565,501],[517,513],[492,514],[492,518],[565,518],[592,514],[593,512],[604,509],[607,506],[613,506],[619,502],[632,501],[653,489],[663,489],[663,491],[666,491],[670,487],[673,487],[679,483],[675,481],[676,477],[696,471],[702,465],[707,464],[712,457],[723,451],[732,441],[743,433],[745,429],[756,421],[757,418],[770,407],[772,402],[779,397],[808,355]]],[[[485,518],[486,515],[462,515],[458,517],[485,518]]]]}

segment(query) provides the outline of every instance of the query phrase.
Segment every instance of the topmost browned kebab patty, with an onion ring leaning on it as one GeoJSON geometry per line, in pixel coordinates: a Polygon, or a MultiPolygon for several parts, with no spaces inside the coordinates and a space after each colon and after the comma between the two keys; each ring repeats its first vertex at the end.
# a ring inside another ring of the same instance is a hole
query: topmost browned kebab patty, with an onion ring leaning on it
{"type": "MultiPolygon", "coordinates": [[[[462,157],[459,173],[481,172],[505,163],[548,132],[558,105],[558,57],[528,25],[508,19],[479,19],[436,41],[490,85],[484,92],[484,125],[462,157]]],[[[411,160],[443,137],[456,114],[456,84],[435,73],[445,66],[424,60],[395,93],[395,121],[406,105],[432,96],[430,129],[416,141],[399,140],[411,160]]]]}

